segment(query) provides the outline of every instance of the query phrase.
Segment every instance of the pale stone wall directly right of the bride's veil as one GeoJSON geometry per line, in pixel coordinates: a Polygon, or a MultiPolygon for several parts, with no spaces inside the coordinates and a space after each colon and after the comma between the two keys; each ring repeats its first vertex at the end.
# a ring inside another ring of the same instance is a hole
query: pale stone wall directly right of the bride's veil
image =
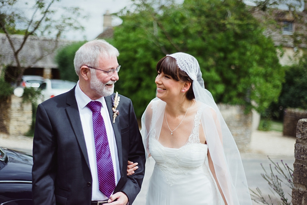
{"type": "Polygon", "coordinates": [[[250,147],[252,135],[252,112],[245,114],[244,106],[218,104],[222,116],[240,151],[250,147]]]}

